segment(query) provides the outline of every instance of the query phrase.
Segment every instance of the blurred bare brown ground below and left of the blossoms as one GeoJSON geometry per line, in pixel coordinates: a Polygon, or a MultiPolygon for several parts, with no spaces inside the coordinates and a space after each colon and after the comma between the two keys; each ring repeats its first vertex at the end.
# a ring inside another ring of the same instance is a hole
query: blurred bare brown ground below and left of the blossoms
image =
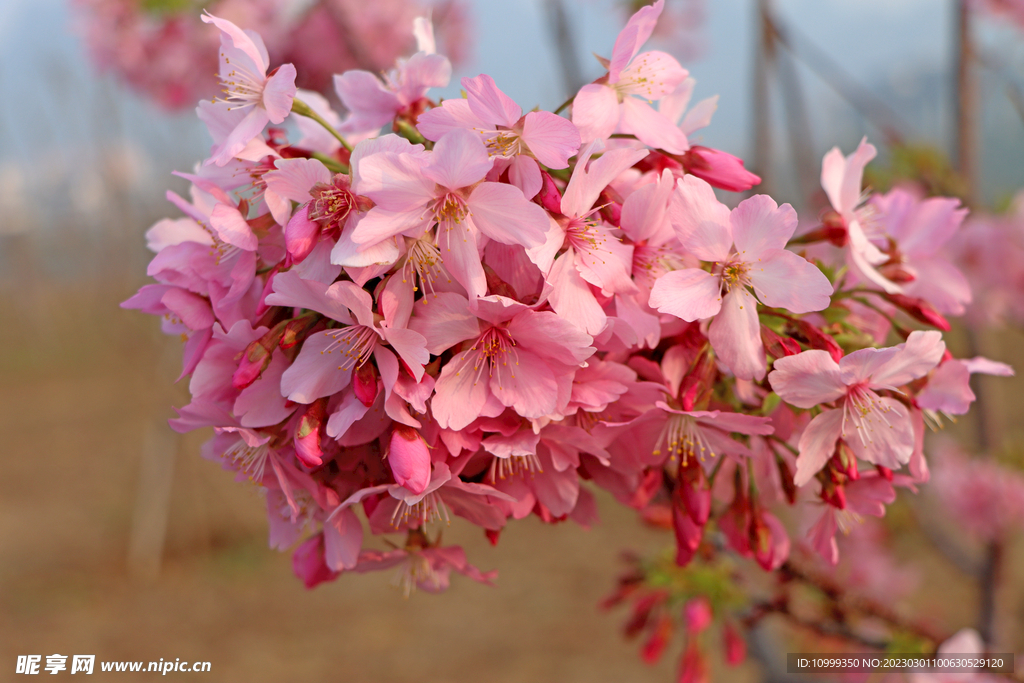
{"type": "MultiPolygon", "coordinates": [[[[172,385],[179,349],[154,319],[116,308],[132,291],[51,288],[14,299],[8,290],[0,301],[0,680],[20,678],[16,655],[54,652],[209,660],[211,681],[674,680],[678,643],[649,668],[620,637],[623,613],[596,609],[623,548],[668,542],[606,497],[590,531],[526,520],[497,548],[455,522],[446,539],[481,568],[500,568],[497,588],[455,578],[445,595],[406,600],[384,572],[306,591],[289,556],[266,548],[261,500],[201,460],[206,435],[194,434],[178,443],[163,570],[131,579],[140,454],[184,402],[172,385]]],[[[970,586],[938,560],[928,566],[926,587],[941,582],[961,600],[939,615],[951,628],[969,622],[970,586]]],[[[1011,629],[1019,593],[1006,593],[1011,629]]],[[[154,674],[104,675],[97,665],[96,676],[154,674]]]]}

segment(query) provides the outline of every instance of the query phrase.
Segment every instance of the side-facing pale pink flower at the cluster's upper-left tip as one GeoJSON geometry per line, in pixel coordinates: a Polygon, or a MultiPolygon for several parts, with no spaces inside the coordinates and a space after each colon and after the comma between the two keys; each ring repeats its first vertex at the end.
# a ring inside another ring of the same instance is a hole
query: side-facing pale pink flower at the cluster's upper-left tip
{"type": "Polygon", "coordinates": [[[220,109],[248,112],[213,151],[208,164],[223,166],[259,135],[267,123],[282,123],[292,111],[295,97],[295,67],[278,67],[270,76],[263,39],[247,33],[226,19],[204,14],[203,20],[220,29],[220,80],[225,98],[220,109]]]}

